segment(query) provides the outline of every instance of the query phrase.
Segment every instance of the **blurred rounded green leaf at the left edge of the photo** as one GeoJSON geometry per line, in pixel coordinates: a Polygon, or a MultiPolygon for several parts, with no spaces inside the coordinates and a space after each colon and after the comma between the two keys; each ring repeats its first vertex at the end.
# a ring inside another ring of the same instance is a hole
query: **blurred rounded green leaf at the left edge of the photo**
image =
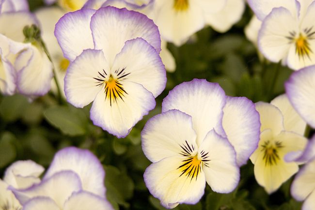
{"type": "Polygon", "coordinates": [[[28,105],[27,99],[22,95],[3,97],[0,103],[0,115],[3,120],[13,122],[22,116],[28,105]]]}

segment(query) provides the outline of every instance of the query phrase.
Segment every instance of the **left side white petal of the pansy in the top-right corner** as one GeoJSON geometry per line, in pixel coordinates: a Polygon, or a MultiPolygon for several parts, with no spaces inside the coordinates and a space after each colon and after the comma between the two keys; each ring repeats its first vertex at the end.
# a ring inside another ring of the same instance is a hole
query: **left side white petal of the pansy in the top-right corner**
{"type": "Polygon", "coordinates": [[[294,46],[286,38],[292,31],[299,31],[298,19],[283,7],[273,9],[259,30],[259,50],[272,62],[286,58],[289,48],[294,46]]]}

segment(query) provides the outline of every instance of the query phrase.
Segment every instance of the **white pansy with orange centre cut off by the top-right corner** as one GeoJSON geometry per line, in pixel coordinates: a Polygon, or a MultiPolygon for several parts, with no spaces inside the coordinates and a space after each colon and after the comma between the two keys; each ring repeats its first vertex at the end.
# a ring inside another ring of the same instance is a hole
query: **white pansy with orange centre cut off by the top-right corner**
{"type": "Polygon", "coordinates": [[[293,70],[315,64],[313,0],[250,0],[249,4],[263,21],[258,46],[268,60],[282,60],[293,70]]]}

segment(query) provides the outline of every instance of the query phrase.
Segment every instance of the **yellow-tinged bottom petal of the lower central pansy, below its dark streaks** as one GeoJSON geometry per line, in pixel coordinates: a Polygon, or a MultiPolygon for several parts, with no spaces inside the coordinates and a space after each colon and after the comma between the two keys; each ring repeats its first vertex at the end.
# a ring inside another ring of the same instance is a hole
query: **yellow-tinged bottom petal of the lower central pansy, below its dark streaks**
{"type": "Polygon", "coordinates": [[[195,204],[204,195],[204,172],[197,179],[180,176],[182,171],[178,166],[183,160],[184,157],[178,156],[164,158],[147,167],[143,175],[150,193],[168,209],[179,203],[195,204]]]}

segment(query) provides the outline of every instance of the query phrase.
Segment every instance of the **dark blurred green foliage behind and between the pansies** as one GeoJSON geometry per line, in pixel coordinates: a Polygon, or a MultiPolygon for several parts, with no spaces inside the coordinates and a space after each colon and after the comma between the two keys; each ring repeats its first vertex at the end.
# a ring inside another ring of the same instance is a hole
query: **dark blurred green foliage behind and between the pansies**
{"type": "MultiPolygon", "coordinates": [[[[44,6],[42,0],[29,0],[32,11],[44,6]]],[[[93,125],[90,106],[83,109],[60,105],[49,93],[33,102],[21,95],[0,96],[0,175],[16,160],[32,159],[47,167],[54,153],[66,146],[93,151],[106,170],[107,197],[115,209],[164,210],[149,194],[143,172],[150,165],[141,149],[141,130],[145,122],[161,112],[163,98],[174,86],[193,78],[218,82],[230,96],[246,96],[253,102],[269,102],[284,93],[284,81],[292,73],[286,67],[260,59],[256,47],[246,39],[244,27],[252,12],[227,33],[207,27],[181,47],[168,48],[177,69],[168,73],[167,86],[157,97],[157,107],[145,116],[123,139],[93,125]]],[[[175,210],[298,210],[289,192],[292,178],[274,194],[268,195],[253,175],[249,161],[241,167],[241,180],[230,194],[217,194],[207,185],[196,205],[179,205],[175,210]]]]}

